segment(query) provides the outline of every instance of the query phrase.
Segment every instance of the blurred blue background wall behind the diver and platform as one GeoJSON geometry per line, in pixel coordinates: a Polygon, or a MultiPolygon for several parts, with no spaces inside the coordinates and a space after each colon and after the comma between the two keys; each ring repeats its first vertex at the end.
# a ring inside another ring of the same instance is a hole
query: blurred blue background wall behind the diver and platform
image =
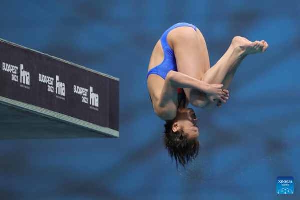
{"type": "Polygon", "coordinates": [[[0,141],[1,199],[299,199],[300,2],[0,1],[0,38],[120,78],[118,139],[0,141]],[[146,74],[178,22],[204,35],[213,66],[234,36],[265,40],[221,108],[196,109],[202,143],[187,171],[162,143],[146,74]],[[292,195],[276,178],[293,176],[292,195]]]}

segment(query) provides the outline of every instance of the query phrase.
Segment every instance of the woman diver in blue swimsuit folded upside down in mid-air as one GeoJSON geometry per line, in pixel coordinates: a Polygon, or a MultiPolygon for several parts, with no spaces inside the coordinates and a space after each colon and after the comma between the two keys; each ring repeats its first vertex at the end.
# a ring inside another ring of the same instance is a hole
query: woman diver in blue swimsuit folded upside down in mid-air
{"type": "Polygon", "coordinates": [[[236,36],[226,53],[210,68],[204,37],[192,24],[177,23],[167,29],[152,52],[147,84],[155,113],[164,120],[163,141],[173,161],[185,165],[199,151],[195,112],[187,108],[220,107],[241,61],[249,54],[264,52],[267,42],[251,42],[236,36]]]}

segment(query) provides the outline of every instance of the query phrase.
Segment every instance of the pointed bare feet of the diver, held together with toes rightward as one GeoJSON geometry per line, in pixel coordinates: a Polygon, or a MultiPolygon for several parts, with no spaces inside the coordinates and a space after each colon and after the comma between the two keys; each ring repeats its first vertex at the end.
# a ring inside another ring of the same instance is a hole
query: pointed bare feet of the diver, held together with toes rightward
{"type": "Polygon", "coordinates": [[[240,36],[234,37],[231,45],[233,45],[234,49],[237,49],[237,51],[244,56],[265,52],[268,48],[268,44],[264,40],[251,42],[246,38],[240,36]]]}

